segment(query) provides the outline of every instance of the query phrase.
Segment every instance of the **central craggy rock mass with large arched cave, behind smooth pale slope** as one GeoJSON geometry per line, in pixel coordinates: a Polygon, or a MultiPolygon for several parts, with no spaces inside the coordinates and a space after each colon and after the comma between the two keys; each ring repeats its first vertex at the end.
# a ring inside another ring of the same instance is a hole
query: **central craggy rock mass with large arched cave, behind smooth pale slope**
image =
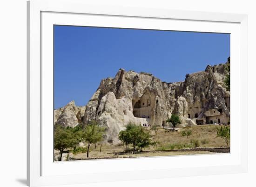
{"type": "Polygon", "coordinates": [[[100,118],[101,100],[105,99],[104,96],[109,92],[113,93],[117,100],[122,99],[129,103],[129,111],[133,117],[149,119],[151,124],[161,126],[171,115],[161,80],[148,73],[126,72],[120,69],[114,79],[101,81],[100,87],[88,102],[84,115],[85,124],[100,118]]]}

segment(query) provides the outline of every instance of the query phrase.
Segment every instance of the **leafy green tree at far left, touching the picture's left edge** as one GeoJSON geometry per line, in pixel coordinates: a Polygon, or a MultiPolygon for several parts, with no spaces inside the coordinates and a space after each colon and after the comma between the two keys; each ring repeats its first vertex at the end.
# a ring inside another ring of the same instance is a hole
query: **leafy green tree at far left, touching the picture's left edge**
{"type": "Polygon", "coordinates": [[[77,141],[75,141],[69,129],[58,124],[54,126],[54,149],[60,151],[59,161],[61,161],[64,150],[69,147],[74,147],[76,143],[77,141]]]}

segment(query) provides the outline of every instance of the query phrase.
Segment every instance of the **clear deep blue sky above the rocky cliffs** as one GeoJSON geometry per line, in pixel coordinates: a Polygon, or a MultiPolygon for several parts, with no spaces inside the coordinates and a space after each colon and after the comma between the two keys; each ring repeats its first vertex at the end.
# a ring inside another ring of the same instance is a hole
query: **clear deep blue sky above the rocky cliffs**
{"type": "Polygon", "coordinates": [[[54,108],[84,106],[120,68],[183,81],[229,57],[229,34],[54,26],[54,108]]]}

